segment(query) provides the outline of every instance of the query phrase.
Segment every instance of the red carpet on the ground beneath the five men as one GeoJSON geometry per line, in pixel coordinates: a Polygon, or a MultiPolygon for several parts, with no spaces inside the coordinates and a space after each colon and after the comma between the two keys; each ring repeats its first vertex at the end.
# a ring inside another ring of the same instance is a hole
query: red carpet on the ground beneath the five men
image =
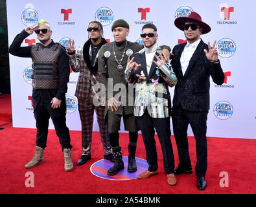
{"type": "MultiPolygon", "coordinates": [[[[1,98],[0,98],[1,101],[1,98]]],[[[7,103],[7,102],[6,102],[7,103]]],[[[0,117],[2,107],[0,105],[0,117]]],[[[4,108],[3,107],[3,108],[4,108]]],[[[6,117],[5,117],[6,118],[6,117]]],[[[3,121],[3,118],[0,118],[3,121]]],[[[2,122],[0,122],[2,123],[2,122]]],[[[0,124],[1,125],[1,124],[0,124]]],[[[5,121],[5,129],[0,130],[0,194],[255,194],[256,193],[256,140],[240,138],[212,138],[208,141],[208,168],[205,179],[207,188],[199,191],[196,188],[196,151],[194,138],[189,138],[189,150],[193,173],[178,175],[176,186],[167,184],[167,177],[163,171],[163,156],[157,140],[159,160],[159,174],[146,180],[106,180],[93,175],[90,166],[103,158],[103,149],[99,133],[93,133],[92,159],[83,166],[76,166],[81,153],[81,133],[71,131],[73,145],[74,171],[64,171],[64,156],[58,137],[54,130],[49,130],[49,138],[45,149],[45,162],[36,168],[25,169],[24,165],[34,155],[36,129],[13,128],[5,121]],[[26,187],[25,173],[34,173],[34,187],[26,187]],[[228,173],[228,187],[221,187],[221,172],[228,173]]],[[[128,135],[120,137],[124,156],[128,155],[128,135]]],[[[172,137],[176,166],[178,152],[176,142],[172,137]]],[[[145,147],[139,135],[136,157],[144,158],[145,147]]]]}

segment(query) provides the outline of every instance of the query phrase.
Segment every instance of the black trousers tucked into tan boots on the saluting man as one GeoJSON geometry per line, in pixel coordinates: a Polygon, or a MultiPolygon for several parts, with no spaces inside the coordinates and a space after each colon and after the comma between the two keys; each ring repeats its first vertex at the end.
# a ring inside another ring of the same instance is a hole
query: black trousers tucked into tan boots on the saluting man
{"type": "Polygon", "coordinates": [[[36,118],[36,146],[46,147],[49,118],[51,117],[52,123],[56,131],[56,135],[60,140],[60,144],[63,149],[71,149],[69,128],[66,125],[66,103],[65,99],[62,99],[60,108],[52,109],[51,103],[36,103],[34,108],[34,117],[36,118]]]}

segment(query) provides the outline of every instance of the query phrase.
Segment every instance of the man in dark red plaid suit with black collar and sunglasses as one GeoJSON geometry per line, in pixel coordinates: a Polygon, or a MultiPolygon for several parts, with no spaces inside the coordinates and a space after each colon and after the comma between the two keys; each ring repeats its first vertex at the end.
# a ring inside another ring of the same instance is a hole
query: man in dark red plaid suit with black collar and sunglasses
{"type": "Polygon", "coordinates": [[[78,166],[91,159],[94,109],[97,114],[104,158],[114,162],[108,125],[104,125],[105,107],[93,104],[93,96],[95,96],[93,86],[99,83],[98,52],[100,47],[107,42],[106,39],[102,38],[103,28],[101,23],[92,21],[89,23],[87,31],[89,32],[89,39],[84,45],[78,47],[77,52],[74,49],[74,40],[69,41],[69,47],[67,48],[72,71],[80,72],[75,93],[78,98],[78,111],[82,123],[82,157],[77,162],[78,166]]]}

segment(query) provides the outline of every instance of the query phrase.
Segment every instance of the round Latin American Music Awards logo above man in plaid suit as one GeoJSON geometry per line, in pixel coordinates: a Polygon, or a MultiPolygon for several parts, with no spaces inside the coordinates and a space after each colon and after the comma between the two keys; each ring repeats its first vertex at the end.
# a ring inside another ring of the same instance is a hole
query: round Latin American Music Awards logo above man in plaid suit
{"type": "Polygon", "coordinates": [[[95,20],[99,21],[102,26],[110,25],[113,21],[113,12],[108,7],[100,7],[95,13],[95,20]]]}

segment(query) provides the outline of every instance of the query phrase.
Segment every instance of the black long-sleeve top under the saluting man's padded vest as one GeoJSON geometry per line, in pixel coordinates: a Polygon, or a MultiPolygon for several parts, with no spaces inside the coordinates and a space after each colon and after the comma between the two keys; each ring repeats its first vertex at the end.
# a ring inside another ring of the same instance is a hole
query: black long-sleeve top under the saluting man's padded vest
{"type": "MultiPolygon", "coordinates": [[[[32,45],[27,47],[21,47],[21,43],[25,38],[29,36],[25,30],[23,30],[20,34],[17,34],[16,38],[10,45],[8,52],[14,56],[19,56],[23,58],[31,58],[31,48],[32,45]]],[[[54,44],[54,41],[51,41],[47,47],[40,44],[42,49],[49,48],[54,44]]],[[[69,57],[64,49],[61,47],[60,55],[58,57],[58,89],[45,90],[45,89],[33,89],[32,98],[36,102],[51,102],[53,97],[62,100],[65,98],[65,93],[67,93],[67,83],[69,82],[69,57]]]]}

